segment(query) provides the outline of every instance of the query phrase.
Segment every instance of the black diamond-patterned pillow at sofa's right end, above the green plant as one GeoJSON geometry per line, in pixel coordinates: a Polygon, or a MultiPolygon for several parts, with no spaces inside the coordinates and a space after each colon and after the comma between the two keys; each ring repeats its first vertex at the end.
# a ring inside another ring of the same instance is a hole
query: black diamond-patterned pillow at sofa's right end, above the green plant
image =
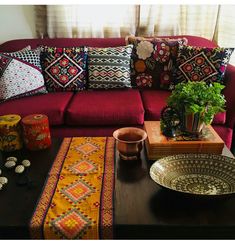
{"type": "Polygon", "coordinates": [[[187,81],[224,84],[224,74],[233,48],[180,46],[174,85],[187,81]]]}

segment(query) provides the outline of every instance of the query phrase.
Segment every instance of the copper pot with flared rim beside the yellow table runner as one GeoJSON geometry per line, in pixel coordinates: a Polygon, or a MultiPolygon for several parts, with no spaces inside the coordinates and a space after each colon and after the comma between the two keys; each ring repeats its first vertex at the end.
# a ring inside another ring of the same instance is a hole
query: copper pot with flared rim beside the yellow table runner
{"type": "Polygon", "coordinates": [[[144,130],[136,127],[124,127],[113,132],[117,142],[117,150],[124,160],[137,160],[147,138],[144,130]]]}

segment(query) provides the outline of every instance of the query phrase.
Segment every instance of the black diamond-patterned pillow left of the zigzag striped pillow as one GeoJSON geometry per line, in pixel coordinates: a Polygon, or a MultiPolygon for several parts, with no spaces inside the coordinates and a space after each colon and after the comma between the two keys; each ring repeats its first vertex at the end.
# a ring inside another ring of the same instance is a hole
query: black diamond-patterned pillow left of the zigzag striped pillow
{"type": "Polygon", "coordinates": [[[86,47],[41,48],[42,69],[48,91],[79,91],[86,88],[86,47]]]}

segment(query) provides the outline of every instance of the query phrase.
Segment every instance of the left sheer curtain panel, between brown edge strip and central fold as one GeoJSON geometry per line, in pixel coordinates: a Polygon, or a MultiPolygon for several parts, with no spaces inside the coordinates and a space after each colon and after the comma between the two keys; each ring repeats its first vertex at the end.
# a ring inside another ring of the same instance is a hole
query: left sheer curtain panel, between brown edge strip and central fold
{"type": "Polygon", "coordinates": [[[134,33],[135,5],[48,5],[49,37],[121,37],[134,33]]]}

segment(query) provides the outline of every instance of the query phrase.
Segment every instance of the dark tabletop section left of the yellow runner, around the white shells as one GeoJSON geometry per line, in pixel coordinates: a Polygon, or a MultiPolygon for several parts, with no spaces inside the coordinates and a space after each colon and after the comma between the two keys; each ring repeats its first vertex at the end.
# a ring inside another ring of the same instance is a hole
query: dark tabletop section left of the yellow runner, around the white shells
{"type": "Polygon", "coordinates": [[[53,139],[52,146],[42,151],[20,150],[3,153],[0,168],[4,169],[2,176],[6,176],[9,183],[0,191],[0,239],[30,238],[29,220],[61,142],[62,139],[53,139]],[[4,168],[4,159],[8,156],[31,161],[32,165],[27,172],[28,184],[18,185],[19,176],[14,170],[4,168]]]}

